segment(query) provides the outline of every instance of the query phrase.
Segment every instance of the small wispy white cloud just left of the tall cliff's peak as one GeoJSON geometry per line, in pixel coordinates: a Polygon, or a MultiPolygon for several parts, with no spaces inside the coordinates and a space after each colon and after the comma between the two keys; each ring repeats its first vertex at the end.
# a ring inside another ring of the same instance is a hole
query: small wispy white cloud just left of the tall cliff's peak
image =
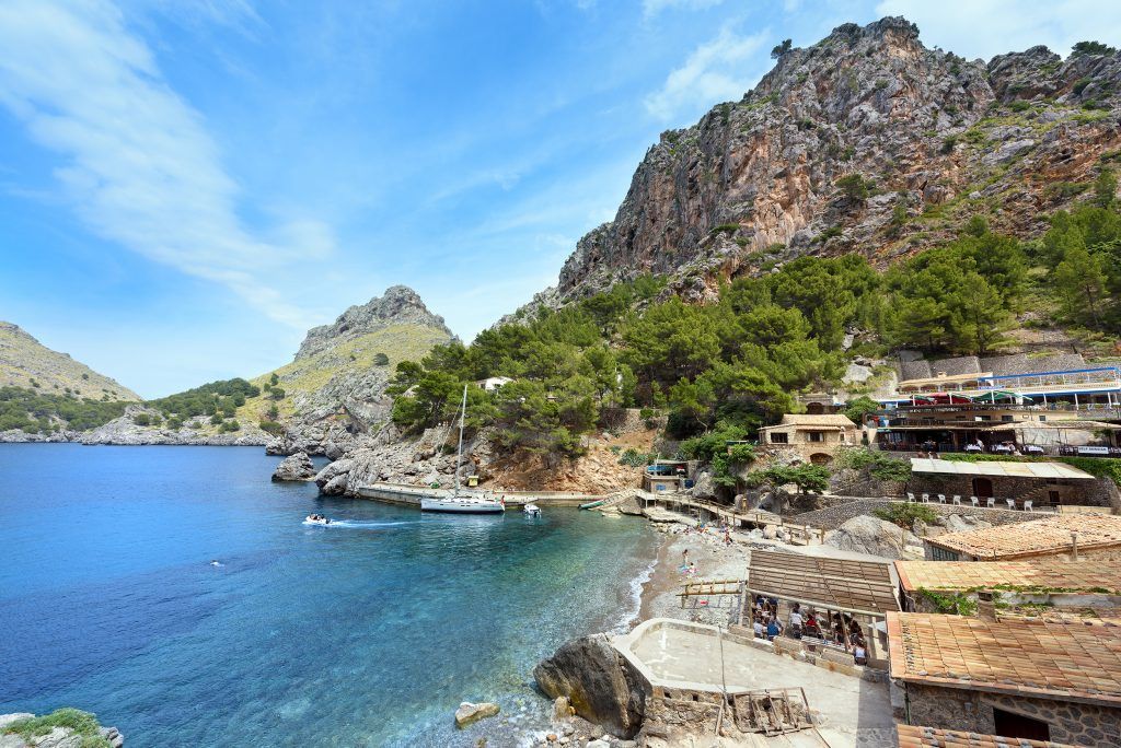
{"type": "Polygon", "coordinates": [[[646,109],[667,121],[695,115],[721,101],[740,99],[760,72],[745,73],[766,44],[769,31],[741,36],[724,28],[720,36],[693,50],[685,64],[673,71],[661,88],[646,97],[646,109]]]}

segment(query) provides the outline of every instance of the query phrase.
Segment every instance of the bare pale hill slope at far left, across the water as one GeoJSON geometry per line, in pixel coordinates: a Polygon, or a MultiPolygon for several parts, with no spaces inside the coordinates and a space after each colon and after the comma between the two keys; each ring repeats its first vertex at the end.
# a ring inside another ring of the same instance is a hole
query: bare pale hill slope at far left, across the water
{"type": "Polygon", "coordinates": [[[44,346],[19,326],[0,321],[0,386],[36,390],[44,394],[67,391],[80,399],[140,400],[115,380],[99,374],[68,354],[44,346]]]}

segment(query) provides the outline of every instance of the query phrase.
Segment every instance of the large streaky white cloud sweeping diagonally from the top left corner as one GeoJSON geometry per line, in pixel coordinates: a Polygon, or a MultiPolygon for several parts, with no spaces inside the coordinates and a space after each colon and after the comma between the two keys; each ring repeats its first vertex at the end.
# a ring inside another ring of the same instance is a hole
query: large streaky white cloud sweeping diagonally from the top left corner
{"type": "Polygon", "coordinates": [[[56,176],[96,234],[306,326],[260,275],[328,253],[330,231],[294,221],[270,241],[242,225],[238,185],[202,116],[167,85],[115,8],[102,0],[0,6],[0,103],[64,158],[56,176]]]}

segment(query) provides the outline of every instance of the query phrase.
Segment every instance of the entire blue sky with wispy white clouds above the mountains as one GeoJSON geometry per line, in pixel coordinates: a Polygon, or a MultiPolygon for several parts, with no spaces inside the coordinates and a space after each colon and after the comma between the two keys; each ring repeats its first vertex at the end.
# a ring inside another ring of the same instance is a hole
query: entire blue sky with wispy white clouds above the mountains
{"type": "Polygon", "coordinates": [[[889,15],[970,58],[1121,43],[1086,0],[0,0],[0,319],[146,398],[396,283],[470,340],[660,132],[889,15]]]}

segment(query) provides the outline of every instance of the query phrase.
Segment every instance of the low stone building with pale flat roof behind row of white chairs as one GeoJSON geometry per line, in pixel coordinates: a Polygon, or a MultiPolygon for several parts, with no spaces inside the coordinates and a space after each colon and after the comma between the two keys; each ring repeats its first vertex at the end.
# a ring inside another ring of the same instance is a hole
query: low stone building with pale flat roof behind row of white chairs
{"type": "Polygon", "coordinates": [[[973,504],[974,496],[981,506],[992,498],[999,508],[1009,506],[1008,499],[1015,502],[1012,508],[1022,508],[1025,502],[1031,502],[1036,511],[1110,506],[1109,488],[1103,480],[1065,462],[965,462],[912,457],[907,490],[916,496],[929,494],[932,498],[942,494],[947,501],[960,496],[966,505],[973,504]]]}

